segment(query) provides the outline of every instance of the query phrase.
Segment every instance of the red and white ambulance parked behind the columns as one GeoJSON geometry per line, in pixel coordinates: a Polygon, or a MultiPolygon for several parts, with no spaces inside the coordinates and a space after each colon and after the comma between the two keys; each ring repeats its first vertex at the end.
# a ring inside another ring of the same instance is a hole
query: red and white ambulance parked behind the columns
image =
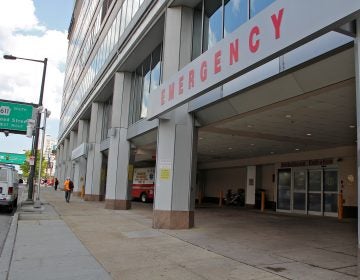
{"type": "Polygon", "coordinates": [[[148,202],[154,199],[155,167],[135,168],[131,195],[148,202]]]}

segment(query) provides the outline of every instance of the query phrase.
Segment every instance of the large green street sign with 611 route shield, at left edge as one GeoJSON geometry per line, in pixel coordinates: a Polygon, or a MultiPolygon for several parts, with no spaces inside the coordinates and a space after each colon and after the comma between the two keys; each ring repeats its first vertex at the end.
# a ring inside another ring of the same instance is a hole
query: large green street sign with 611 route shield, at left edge
{"type": "Polygon", "coordinates": [[[0,101],[0,131],[26,134],[27,120],[33,117],[33,106],[0,101]]]}

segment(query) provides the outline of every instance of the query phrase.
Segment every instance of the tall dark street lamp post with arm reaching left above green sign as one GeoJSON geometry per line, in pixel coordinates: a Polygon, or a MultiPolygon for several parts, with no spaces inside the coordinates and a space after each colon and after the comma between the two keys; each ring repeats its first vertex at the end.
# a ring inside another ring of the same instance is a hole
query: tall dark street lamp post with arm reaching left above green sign
{"type": "MultiPolygon", "coordinates": [[[[38,59],[30,59],[30,58],[23,58],[23,57],[16,57],[13,55],[4,55],[4,59],[10,59],[10,60],[28,60],[28,61],[34,61],[34,62],[40,62],[44,64],[43,68],[43,74],[42,74],[42,80],[41,80],[41,89],[40,89],[40,97],[39,97],[39,106],[42,106],[43,103],[43,96],[44,96],[44,86],[45,86],[45,76],[46,76],[46,66],[47,66],[47,58],[44,60],[38,60],[38,59]]],[[[36,117],[36,124],[37,126],[40,126],[41,121],[41,113],[38,112],[36,117]]],[[[29,192],[28,192],[28,201],[33,201],[33,193],[34,193],[34,177],[35,177],[35,170],[36,170],[36,157],[37,157],[37,149],[39,145],[39,129],[35,129],[35,138],[33,141],[32,149],[31,149],[31,155],[34,156],[34,165],[31,165],[30,167],[30,173],[29,173],[29,192]]],[[[41,166],[40,166],[41,168],[41,166]]]]}

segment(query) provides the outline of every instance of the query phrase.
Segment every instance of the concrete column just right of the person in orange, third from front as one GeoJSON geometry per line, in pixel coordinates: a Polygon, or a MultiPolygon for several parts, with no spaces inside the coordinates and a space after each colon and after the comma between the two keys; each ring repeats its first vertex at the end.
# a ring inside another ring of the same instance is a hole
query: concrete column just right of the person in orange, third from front
{"type": "Polygon", "coordinates": [[[100,201],[104,197],[100,195],[101,161],[100,152],[102,118],[104,106],[101,103],[93,103],[91,106],[91,119],[89,129],[89,151],[86,167],[85,200],[100,201]]]}

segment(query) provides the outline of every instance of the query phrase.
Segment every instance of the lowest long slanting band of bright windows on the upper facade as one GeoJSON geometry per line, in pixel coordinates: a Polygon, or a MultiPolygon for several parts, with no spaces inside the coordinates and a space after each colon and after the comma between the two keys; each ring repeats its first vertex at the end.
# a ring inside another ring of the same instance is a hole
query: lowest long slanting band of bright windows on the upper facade
{"type": "MultiPolygon", "coordinates": [[[[70,98],[66,101],[66,108],[64,108],[62,121],[60,123],[60,134],[67,127],[75,112],[78,111],[79,106],[86,94],[89,92],[90,86],[95,81],[95,78],[101,72],[105,63],[109,60],[110,54],[114,51],[120,37],[123,35],[126,27],[129,25],[131,19],[139,10],[144,0],[125,0],[115,17],[110,30],[105,39],[100,45],[95,57],[93,58],[90,67],[87,69],[84,78],[74,94],[69,94],[70,98]],[[71,106],[69,106],[71,105],[71,106]]],[[[76,79],[75,79],[76,80],[76,79]]],[[[71,91],[71,88],[68,89],[71,91]]]]}

